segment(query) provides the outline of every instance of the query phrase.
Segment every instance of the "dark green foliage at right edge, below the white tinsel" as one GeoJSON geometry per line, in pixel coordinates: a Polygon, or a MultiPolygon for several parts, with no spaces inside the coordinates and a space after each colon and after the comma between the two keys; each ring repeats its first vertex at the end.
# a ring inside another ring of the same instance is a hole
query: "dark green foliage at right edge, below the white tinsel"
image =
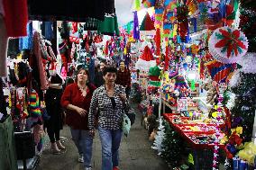
{"type": "Polygon", "coordinates": [[[231,112],[233,118],[242,117],[242,136],[244,141],[250,141],[256,110],[256,74],[241,73],[241,80],[232,88],[236,100],[231,112]]]}

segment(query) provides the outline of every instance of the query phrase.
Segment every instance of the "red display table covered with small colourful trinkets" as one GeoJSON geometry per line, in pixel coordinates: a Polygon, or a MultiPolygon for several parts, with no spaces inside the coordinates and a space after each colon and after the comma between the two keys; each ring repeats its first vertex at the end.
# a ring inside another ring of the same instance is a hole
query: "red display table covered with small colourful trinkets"
{"type": "MultiPolygon", "coordinates": [[[[214,157],[214,136],[215,124],[210,123],[186,123],[189,122],[188,117],[180,117],[181,121],[176,122],[175,119],[179,113],[164,113],[165,120],[169,121],[170,126],[178,132],[178,134],[187,141],[191,147],[195,162],[195,170],[211,169],[214,157]],[[197,128],[196,128],[197,127],[197,128]]],[[[220,148],[224,145],[220,144],[220,148]]]]}

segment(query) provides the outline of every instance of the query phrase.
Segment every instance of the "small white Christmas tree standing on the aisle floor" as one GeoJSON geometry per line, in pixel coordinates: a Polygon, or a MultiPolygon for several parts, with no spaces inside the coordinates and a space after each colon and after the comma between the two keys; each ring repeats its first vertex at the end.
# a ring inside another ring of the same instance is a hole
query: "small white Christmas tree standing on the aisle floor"
{"type": "Polygon", "coordinates": [[[165,126],[163,125],[163,118],[160,118],[160,125],[158,128],[157,135],[155,137],[155,141],[151,148],[158,151],[158,154],[161,155],[162,151],[162,141],[165,139],[165,126]]]}

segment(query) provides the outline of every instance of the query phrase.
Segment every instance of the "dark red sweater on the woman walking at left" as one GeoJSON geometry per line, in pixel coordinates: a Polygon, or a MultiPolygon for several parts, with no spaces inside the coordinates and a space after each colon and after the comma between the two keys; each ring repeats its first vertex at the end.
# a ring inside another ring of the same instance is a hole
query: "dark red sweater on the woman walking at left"
{"type": "MultiPolygon", "coordinates": [[[[67,108],[68,104],[73,104],[89,112],[95,89],[95,85],[90,85],[90,88],[87,88],[87,96],[84,97],[79,90],[78,84],[73,83],[65,88],[60,103],[64,108],[67,108]]],[[[66,123],[74,130],[88,130],[88,114],[82,117],[78,112],[67,110],[66,123]]]]}

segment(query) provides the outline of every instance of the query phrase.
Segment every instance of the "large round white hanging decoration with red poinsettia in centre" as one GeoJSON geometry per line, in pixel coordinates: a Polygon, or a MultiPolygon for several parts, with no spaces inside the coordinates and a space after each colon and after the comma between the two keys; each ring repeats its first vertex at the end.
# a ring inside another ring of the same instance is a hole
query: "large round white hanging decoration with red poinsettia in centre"
{"type": "Polygon", "coordinates": [[[230,27],[216,29],[209,39],[209,51],[222,63],[237,62],[248,49],[248,40],[242,31],[230,27]]]}

